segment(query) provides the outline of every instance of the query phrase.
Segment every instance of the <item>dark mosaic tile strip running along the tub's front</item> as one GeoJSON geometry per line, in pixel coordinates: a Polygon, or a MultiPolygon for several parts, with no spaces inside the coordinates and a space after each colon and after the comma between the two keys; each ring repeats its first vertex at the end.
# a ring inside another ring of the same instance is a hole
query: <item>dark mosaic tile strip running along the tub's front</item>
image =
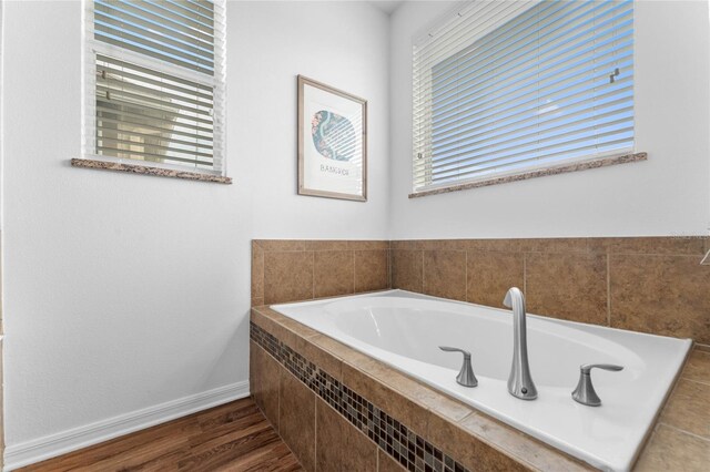
{"type": "Polygon", "coordinates": [[[430,442],[250,321],[250,338],[410,472],[469,472],[430,442]]]}

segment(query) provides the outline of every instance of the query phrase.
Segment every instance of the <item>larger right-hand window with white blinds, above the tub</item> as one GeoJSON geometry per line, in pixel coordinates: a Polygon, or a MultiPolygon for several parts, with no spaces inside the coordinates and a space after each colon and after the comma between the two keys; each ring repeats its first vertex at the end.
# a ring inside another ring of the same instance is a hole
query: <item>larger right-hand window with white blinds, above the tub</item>
{"type": "Polygon", "coordinates": [[[467,2],[414,45],[414,193],[633,150],[633,2],[467,2]]]}

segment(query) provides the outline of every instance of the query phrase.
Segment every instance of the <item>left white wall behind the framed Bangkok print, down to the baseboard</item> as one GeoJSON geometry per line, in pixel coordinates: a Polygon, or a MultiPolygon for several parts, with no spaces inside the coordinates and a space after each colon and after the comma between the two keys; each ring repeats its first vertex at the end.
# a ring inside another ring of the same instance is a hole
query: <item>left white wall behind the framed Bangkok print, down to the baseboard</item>
{"type": "Polygon", "coordinates": [[[222,186],[70,167],[81,3],[4,7],[6,443],[39,453],[247,379],[253,237],[386,237],[388,23],[367,3],[230,3],[222,186]],[[295,195],[297,73],[369,100],[368,203],[295,195]]]}

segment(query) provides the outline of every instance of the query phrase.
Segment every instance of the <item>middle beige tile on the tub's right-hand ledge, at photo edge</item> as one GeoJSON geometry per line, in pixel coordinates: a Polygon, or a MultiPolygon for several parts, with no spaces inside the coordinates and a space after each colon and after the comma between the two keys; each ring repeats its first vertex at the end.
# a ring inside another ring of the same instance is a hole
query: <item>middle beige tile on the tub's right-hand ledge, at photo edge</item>
{"type": "Polygon", "coordinates": [[[709,404],[710,388],[707,384],[680,379],[660,421],[710,440],[709,404]]]}

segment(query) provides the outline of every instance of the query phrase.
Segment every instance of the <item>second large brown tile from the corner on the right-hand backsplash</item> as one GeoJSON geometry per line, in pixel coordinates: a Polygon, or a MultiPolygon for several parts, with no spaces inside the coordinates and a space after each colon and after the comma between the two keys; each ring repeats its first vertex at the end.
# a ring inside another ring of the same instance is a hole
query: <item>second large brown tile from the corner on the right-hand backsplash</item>
{"type": "Polygon", "coordinates": [[[466,253],[463,250],[425,250],[424,293],[465,301],[466,253]]]}

